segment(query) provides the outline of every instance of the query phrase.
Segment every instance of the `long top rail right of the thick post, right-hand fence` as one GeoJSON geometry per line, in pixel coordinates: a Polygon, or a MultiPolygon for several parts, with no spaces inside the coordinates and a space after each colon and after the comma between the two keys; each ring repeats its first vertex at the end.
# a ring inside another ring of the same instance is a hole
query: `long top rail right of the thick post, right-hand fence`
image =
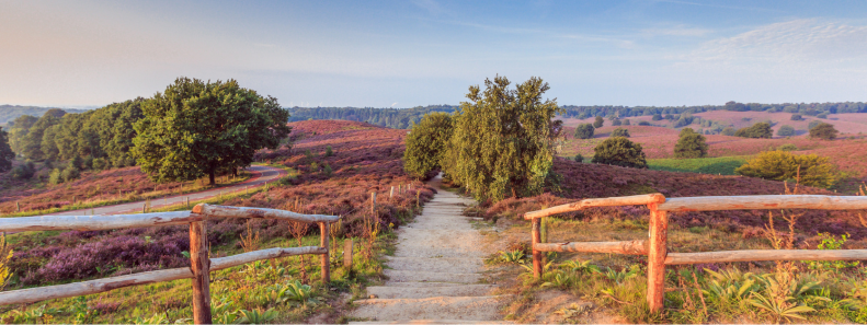
{"type": "Polygon", "coordinates": [[[825,195],[705,196],[670,198],[659,205],[660,211],[673,212],[762,209],[867,209],[867,197],[825,195]]]}

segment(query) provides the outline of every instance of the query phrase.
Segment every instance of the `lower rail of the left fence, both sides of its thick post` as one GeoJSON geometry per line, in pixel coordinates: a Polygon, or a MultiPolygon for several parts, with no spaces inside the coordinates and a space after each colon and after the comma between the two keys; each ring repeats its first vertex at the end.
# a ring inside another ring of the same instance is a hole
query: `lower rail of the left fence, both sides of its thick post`
{"type": "MultiPolygon", "coordinates": [[[[233,266],[248,264],[255,260],[294,256],[303,254],[324,254],[326,249],[318,246],[292,247],[292,248],[269,248],[250,253],[243,253],[227,257],[210,259],[210,271],[226,269],[233,266]]],[[[90,281],[82,281],[69,285],[38,287],[14,291],[0,292],[0,305],[33,303],[49,299],[60,299],[78,295],[94,294],[106,292],[114,289],[164,282],[180,279],[193,278],[193,271],[189,267],[163,269],[134,275],[111,277],[90,281]]]]}

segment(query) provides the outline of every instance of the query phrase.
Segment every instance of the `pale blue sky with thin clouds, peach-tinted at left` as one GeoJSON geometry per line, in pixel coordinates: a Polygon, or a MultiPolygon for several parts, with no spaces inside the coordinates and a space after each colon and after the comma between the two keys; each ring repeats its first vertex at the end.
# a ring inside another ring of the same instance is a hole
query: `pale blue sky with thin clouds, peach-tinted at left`
{"type": "Polygon", "coordinates": [[[0,104],[189,77],[283,106],[456,105],[498,74],[561,105],[867,101],[867,1],[0,0],[0,104]]]}

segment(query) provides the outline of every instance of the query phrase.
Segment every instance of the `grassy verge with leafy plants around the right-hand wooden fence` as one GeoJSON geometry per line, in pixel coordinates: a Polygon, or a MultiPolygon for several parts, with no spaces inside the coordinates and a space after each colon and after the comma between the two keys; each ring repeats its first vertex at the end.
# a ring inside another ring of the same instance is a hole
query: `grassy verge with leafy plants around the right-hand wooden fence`
{"type": "MultiPolygon", "coordinates": [[[[640,220],[550,219],[548,242],[647,239],[640,220]]],[[[851,263],[733,263],[668,267],[665,310],[647,307],[647,258],[618,254],[549,254],[540,279],[529,264],[529,228],[490,233],[504,249],[489,256],[502,293],[516,297],[506,320],[521,323],[864,323],[867,277],[851,263]],[[514,253],[517,252],[517,253],[514,253]]],[[[768,249],[769,241],[725,229],[669,231],[671,252],[768,249]]],[[[835,239],[840,241],[840,239],[835,239]]],[[[845,241],[844,241],[845,242],[845,241]]]]}

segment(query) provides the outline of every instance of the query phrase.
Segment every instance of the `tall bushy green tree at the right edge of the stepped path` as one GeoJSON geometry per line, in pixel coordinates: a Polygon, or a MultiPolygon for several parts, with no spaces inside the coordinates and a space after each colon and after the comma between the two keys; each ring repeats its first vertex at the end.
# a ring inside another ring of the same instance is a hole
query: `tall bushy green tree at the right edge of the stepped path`
{"type": "Polygon", "coordinates": [[[554,163],[562,121],[557,100],[541,101],[548,83],[533,77],[510,90],[505,77],[469,88],[468,102],[453,118],[454,134],[444,162],[446,174],[477,199],[541,193],[554,163]]]}

